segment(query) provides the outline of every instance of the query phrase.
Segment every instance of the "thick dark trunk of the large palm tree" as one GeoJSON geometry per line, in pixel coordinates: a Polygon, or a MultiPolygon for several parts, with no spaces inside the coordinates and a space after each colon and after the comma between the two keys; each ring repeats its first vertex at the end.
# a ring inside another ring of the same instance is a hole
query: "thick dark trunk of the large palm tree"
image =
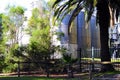
{"type": "MultiPolygon", "coordinates": [[[[108,46],[108,27],[110,24],[110,13],[108,8],[107,0],[98,0],[97,4],[97,16],[100,26],[100,43],[101,43],[101,62],[111,62],[111,56],[109,53],[108,46]]],[[[112,64],[102,64],[101,71],[112,71],[114,70],[112,64]]]]}

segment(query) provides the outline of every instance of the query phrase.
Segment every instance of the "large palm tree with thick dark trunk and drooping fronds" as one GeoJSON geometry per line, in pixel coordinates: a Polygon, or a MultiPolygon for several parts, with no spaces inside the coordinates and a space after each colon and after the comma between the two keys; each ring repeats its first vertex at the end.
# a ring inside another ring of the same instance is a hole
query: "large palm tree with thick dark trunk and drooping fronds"
{"type": "Polygon", "coordinates": [[[120,0],[56,0],[53,4],[56,19],[61,18],[62,20],[66,14],[71,14],[68,26],[71,25],[71,22],[82,9],[85,9],[87,21],[89,21],[95,7],[97,8],[97,22],[100,27],[101,62],[108,62],[102,64],[101,70],[114,70],[113,66],[109,63],[111,56],[108,46],[108,27],[110,26],[111,19],[110,9],[120,8],[120,0]]]}

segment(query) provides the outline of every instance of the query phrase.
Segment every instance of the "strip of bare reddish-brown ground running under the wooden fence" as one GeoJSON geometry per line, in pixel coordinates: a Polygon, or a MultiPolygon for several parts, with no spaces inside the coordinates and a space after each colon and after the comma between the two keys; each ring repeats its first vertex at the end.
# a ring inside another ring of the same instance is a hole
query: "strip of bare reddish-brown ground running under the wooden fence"
{"type": "MultiPolygon", "coordinates": [[[[0,74],[0,76],[16,76],[16,73],[7,73],[7,74],[0,74]]],[[[40,75],[40,74],[22,74],[21,76],[39,76],[39,77],[46,77],[46,75],[40,75]]],[[[50,74],[51,78],[65,78],[68,79],[67,74],[50,74]]],[[[72,80],[120,80],[120,74],[106,74],[106,73],[93,73],[92,76],[89,73],[80,73],[80,74],[74,74],[74,78],[72,80]]],[[[68,79],[69,80],[69,79],[68,79]]]]}

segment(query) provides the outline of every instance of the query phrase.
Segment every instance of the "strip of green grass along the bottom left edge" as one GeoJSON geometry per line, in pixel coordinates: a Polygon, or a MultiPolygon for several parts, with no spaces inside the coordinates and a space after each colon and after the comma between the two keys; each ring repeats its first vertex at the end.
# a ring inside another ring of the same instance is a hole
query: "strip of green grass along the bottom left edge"
{"type": "Polygon", "coordinates": [[[65,79],[46,77],[0,77],[0,80],[65,80],[65,79]]]}

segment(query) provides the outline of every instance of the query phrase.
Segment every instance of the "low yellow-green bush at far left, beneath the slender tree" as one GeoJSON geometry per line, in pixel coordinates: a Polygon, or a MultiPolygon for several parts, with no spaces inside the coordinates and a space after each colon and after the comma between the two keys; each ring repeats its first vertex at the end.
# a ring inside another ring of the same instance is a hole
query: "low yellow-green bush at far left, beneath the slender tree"
{"type": "Polygon", "coordinates": [[[6,49],[4,52],[4,68],[2,69],[2,72],[12,72],[16,70],[17,64],[12,62],[18,61],[18,56],[14,55],[14,50],[17,47],[18,45],[16,44],[15,46],[6,49]]]}

